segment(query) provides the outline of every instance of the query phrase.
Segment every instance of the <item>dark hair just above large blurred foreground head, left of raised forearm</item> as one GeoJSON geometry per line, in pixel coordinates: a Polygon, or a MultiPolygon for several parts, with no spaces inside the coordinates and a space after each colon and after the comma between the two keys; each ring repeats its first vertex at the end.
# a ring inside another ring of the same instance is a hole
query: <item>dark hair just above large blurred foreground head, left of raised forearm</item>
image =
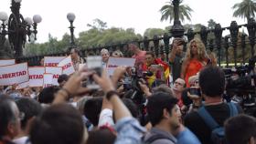
{"type": "Polygon", "coordinates": [[[54,95],[59,91],[59,87],[45,87],[38,95],[39,103],[50,104],[54,100],[54,95]]]}

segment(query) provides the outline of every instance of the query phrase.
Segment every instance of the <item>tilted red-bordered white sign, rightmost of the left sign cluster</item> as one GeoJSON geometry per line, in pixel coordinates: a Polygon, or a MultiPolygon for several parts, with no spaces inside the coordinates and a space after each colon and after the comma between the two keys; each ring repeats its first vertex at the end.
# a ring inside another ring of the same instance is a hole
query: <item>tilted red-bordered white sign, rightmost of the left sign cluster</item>
{"type": "Polygon", "coordinates": [[[59,62],[58,67],[62,67],[62,74],[73,74],[75,72],[75,68],[73,67],[73,63],[71,57],[66,57],[59,62]]]}

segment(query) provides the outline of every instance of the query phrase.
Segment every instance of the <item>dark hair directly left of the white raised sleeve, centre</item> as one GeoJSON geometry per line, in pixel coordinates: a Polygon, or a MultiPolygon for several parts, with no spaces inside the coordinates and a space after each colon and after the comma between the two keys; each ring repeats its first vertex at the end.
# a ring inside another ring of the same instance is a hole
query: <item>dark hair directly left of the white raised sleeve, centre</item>
{"type": "Polygon", "coordinates": [[[88,118],[93,126],[98,126],[102,107],[102,98],[91,98],[84,104],[83,114],[88,118]]]}

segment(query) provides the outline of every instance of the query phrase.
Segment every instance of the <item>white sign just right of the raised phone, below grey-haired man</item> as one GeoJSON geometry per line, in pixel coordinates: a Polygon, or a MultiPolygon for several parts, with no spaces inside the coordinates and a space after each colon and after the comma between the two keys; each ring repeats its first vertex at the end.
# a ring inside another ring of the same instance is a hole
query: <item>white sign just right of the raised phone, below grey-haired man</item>
{"type": "Polygon", "coordinates": [[[107,73],[112,76],[113,71],[116,67],[134,67],[135,58],[125,58],[125,57],[110,57],[107,64],[107,73]]]}

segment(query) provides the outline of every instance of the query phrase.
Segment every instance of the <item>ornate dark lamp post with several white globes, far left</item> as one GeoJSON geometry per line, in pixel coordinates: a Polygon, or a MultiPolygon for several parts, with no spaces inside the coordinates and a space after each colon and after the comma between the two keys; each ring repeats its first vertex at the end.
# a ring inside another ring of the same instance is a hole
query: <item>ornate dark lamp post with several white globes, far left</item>
{"type": "Polygon", "coordinates": [[[42,21],[42,18],[40,15],[34,15],[33,21],[30,17],[24,19],[23,15],[19,13],[20,3],[21,0],[12,0],[10,7],[12,14],[9,17],[5,12],[0,12],[0,20],[2,21],[0,26],[0,58],[7,55],[4,49],[6,35],[16,58],[22,57],[27,36],[28,41],[30,41],[30,36],[34,34],[34,39],[37,40],[37,24],[42,21]]]}

